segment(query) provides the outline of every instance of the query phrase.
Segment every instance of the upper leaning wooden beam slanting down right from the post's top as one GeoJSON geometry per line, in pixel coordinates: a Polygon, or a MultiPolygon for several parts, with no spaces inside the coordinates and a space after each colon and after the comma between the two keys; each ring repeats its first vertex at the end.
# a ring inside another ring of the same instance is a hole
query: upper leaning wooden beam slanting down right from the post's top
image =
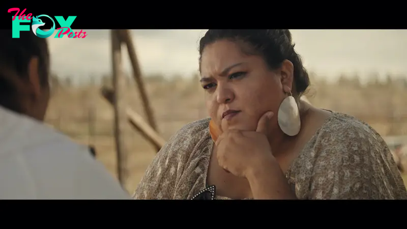
{"type": "Polygon", "coordinates": [[[134,79],[137,82],[138,85],[138,91],[140,92],[141,100],[143,102],[143,107],[144,111],[146,112],[148,121],[150,126],[154,129],[157,130],[157,125],[154,119],[153,111],[150,106],[149,98],[147,96],[146,89],[144,87],[144,82],[141,77],[141,69],[140,65],[137,60],[137,55],[135,51],[135,47],[133,44],[133,41],[130,36],[130,31],[129,30],[120,30],[120,37],[122,41],[126,44],[127,46],[127,51],[129,52],[129,58],[131,62],[131,66],[133,68],[133,76],[134,79]]]}

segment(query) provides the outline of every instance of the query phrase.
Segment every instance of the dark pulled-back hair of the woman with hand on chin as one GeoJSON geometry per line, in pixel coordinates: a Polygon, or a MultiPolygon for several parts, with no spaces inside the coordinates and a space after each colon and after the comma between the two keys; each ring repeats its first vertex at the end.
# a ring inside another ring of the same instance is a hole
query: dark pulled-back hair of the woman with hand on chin
{"type": "MultiPolygon", "coordinates": [[[[301,56],[294,50],[291,33],[288,30],[208,30],[199,41],[199,71],[203,49],[217,41],[228,39],[250,45],[247,54],[261,55],[271,69],[281,66],[284,60],[294,65],[294,82],[300,97],[308,88],[310,81],[301,56]]],[[[294,94],[294,92],[293,92],[294,94]]]]}

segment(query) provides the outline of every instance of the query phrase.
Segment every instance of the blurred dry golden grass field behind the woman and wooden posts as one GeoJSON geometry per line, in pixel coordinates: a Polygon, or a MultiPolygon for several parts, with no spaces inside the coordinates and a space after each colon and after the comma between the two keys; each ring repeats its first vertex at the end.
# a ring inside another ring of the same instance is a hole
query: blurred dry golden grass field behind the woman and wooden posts
{"type": "MultiPolygon", "coordinates": [[[[101,86],[59,85],[53,89],[46,123],[78,142],[94,145],[97,159],[115,175],[113,110],[100,96],[101,86]]],[[[207,117],[203,90],[197,78],[164,80],[146,77],[146,87],[159,133],[164,139],[185,124],[207,117]]],[[[407,135],[407,107],[403,100],[407,98],[406,89],[407,82],[401,80],[371,82],[362,86],[357,78],[343,77],[330,84],[313,77],[307,97],[318,107],[348,113],[368,122],[383,136],[407,135]]],[[[129,83],[127,90],[128,104],[146,119],[134,83],[129,83]]],[[[126,139],[129,174],[125,187],[132,193],[156,152],[130,125],[126,139]]],[[[407,176],[404,178],[407,181],[407,176]]]]}

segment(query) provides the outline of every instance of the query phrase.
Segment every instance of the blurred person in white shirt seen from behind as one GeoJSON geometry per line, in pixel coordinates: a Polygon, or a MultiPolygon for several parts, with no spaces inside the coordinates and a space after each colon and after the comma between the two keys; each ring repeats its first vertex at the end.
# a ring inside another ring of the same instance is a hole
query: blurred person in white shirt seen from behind
{"type": "Polygon", "coordinates": [[[130,199],[89,148],[43,124],[46,39],[0,31],[0,199],[130,199]]]}

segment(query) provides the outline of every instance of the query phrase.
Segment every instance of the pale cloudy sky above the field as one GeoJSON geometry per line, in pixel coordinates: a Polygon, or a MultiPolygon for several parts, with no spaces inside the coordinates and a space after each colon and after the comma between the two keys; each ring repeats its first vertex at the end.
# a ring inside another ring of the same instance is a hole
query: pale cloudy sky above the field
{"type": "MultiPolygon", "coordinates": [[[[85,30],[83,39],[48,38],[51,69],[76,80],[111,72],[109,30],[85,30]]],[[[197,72],[199,38],[206,30],[132,30],[144,74],[185,77],[197,72]]],[[[407,30],[292,30],[305,67],[332,80],[341,73],[407,75],[407,30]]],[[[124,47],[125,48],[125,47],[124,47]]],[[[131,72],[127,49],[125,71],[131,72]]]]}

